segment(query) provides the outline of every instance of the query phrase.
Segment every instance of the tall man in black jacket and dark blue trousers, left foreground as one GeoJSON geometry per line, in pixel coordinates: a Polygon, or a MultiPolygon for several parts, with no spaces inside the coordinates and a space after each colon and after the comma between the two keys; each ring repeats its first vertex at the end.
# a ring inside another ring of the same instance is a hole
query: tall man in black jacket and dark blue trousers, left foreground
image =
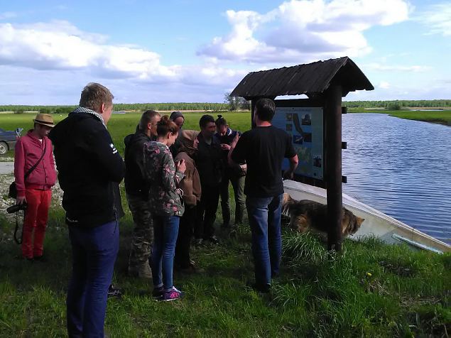
{"type": "Polygon", "coordinates": [[[123,215],[119,182],[125,166],[107,131],[113,95],[89,83],[72,111],[49,135],[72,244],[67,290],[69,337],[104,337],[107,290],[119,251],[123,215]]]}

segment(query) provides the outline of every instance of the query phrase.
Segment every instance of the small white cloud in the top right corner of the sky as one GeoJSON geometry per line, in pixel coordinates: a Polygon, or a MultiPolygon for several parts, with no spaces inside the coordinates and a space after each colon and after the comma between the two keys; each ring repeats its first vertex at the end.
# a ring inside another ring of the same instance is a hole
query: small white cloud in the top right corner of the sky
{"type": "Polygon", "coordinates": [[[429,34],[451,36],[451,2],[432,5],[415,20],[428,26],[429,34]]]}

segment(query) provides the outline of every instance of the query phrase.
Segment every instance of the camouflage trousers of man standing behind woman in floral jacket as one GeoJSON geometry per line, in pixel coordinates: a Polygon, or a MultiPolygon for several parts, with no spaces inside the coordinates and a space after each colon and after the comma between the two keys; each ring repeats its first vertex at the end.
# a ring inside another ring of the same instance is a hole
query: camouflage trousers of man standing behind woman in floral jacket
{"type": "Polygon", "coordinates": [[[153,222],[149,210],[150,203],[141,197],[127,194],[129,208],[135,227],[131,237],[129,268],[138,268],[147,263],[152,256],[153,222]]]}

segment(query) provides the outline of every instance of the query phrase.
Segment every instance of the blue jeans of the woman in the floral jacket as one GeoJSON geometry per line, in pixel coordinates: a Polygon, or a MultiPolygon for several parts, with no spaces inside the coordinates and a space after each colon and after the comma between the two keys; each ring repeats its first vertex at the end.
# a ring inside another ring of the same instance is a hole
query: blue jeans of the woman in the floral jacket
{"type": "Polygon", "coordinates": [[[153,287],[173,287],[175,243],[177,242],[178,216],[153,215],[152,276],[153,287]]]}

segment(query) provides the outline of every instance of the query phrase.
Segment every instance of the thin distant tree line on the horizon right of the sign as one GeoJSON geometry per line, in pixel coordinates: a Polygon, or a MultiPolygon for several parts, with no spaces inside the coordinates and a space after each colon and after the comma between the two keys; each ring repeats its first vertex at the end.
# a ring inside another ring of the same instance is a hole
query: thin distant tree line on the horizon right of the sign
{"type": "Polygon", "coordinates": [[[386,108],[400,110],[403,107],[451,107],[451,99],[433,100],[394,100],[394,101],[346,101],[343,106],[349,108],[386,108]]]}

